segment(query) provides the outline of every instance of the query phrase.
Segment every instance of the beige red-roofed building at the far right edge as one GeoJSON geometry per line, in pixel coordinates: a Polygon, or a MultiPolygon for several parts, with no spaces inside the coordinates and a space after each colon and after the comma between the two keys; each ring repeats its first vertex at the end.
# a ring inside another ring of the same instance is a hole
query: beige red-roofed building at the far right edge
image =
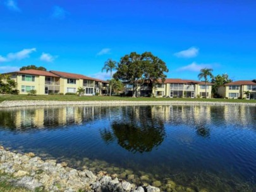
{"type": "Polygon", "coordinates": [[[218,88],[218,94],[226,99],[256,99],[256,80],[226,83],[218,88]]]}

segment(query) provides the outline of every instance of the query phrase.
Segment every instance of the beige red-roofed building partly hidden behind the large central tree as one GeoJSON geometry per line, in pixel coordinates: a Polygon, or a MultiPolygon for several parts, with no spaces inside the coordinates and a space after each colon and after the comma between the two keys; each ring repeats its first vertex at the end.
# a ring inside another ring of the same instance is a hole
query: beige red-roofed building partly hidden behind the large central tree
{"type": "MultiPolygon", "coordinates": [[[[160,82],[160,81],[159,81],[160,82]]],[[[212,83],[207,83],[207,98],[211,98],[212,83]]],[[[133,85],[125,83],[125,93],[131,94],[133,85]]],[[[205,97],[205,83],[195,80],[181,80],[168,78],[164,83],[158,83],[154,88],[148,83],[144,83],[137,89],[137,96],[149,96],[154,93],[156,97],[205,97]]]]}

